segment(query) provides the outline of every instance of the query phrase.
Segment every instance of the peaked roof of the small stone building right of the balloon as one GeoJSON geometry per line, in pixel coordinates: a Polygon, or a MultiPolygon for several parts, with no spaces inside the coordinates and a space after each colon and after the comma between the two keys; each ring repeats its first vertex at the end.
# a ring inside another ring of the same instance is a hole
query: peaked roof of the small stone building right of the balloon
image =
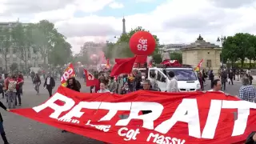
{"type": "Polygon", "coordinates": [[[193,49],[193,48],[220,48],[218,45],[215,45],[214,43],[206,42],[201,34],[199,34],[199,37],[195,42],[190,43],[190,45],[184,46],[182,49],[193,49]]]}

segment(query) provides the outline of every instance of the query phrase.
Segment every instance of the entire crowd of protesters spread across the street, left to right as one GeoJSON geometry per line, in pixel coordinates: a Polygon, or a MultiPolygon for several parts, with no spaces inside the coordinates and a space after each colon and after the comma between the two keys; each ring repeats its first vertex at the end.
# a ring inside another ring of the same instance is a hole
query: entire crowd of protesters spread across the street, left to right
{"type": "MultiPolygon", "coordinates": [[[[204,91],[206,85],[206,79],[208,78],[211,83],[211,90],[209,91],[220,91],[226,90],[226,82],[234,85],[236,76],[235,70],[226,70],[225,68],[219,70],[218,76],[214,76],[213,70],[202,70],[198,71],[198,80],[201,83],[201,89],[204,91]]],[[[98,85],[90,86],[90,93],[116,93],[116,94],[129,94],[136,90],[153,90],[159,91],[158,82],[156,80],[156,74],[150,73],[150,80],[147,78],[147,74],[142,73],[140,70],[133,70],[132,74],[120,74],[118,77],[111,77],[109,72],[92,72],[95,78],[98,78],[98,85]]],[[[39,88],[42,84],[41,77],[39,74],[35,74],[34,71],[30,73],[32,82],[34,83],[34,90],[36,94],[39,94],[39,88]]],[[[170,81],[166,83],[166,92],[180,92],[178,89],[178,80],[174,72],[170,71],[167,74],[170,81]]],[[[251,76],[250,70],[247,70],[245,74],[239,74],[237,80],[242,81],[242,86],[239,90],[238,98],[249,102],[255,102],[256,90],[252,86],[253,77],[251,76]]],[[[46,74],[43,78],[43,87],[48,90],[49,96],[52,95],[55,79],[50,73],[46,74]]],[[[69,78],[67,81],[67,88],[80,92],[81,84],[76,78],[69,78]]],[[[0,102],[0,106],[9,111],[14,109],[17,105],[22,105],[22,86],[24,84],[24,78],[21,73],[8,74],[0,76],[0,93],[2,98],[6,98],[7,107],[0,102]]],[[[142,114],[149,114],[150,110],[143,110],[142,114]]],[[[125,116],[124,116],[125,117],[125,116]]],[[[62,130],[66,132],[66,130],[62,130]]],[[[0,133],[4,144],[9,144],[6,139],[6,134],[2,126],[2,116],[0,114],[0,133]]]]}

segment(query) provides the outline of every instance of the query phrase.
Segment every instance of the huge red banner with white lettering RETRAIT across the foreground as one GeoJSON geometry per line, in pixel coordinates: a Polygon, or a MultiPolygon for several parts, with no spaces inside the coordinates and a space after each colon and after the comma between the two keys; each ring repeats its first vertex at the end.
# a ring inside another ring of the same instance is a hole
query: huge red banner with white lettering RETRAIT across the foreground
{"type": "Polygon", "coordinates": [[[255,109],[255,103],[214,92],[82,94],[60,86],[42,105],[11,111],[114,144],[220,144],[244,142],[256,130],[255,109]]]}

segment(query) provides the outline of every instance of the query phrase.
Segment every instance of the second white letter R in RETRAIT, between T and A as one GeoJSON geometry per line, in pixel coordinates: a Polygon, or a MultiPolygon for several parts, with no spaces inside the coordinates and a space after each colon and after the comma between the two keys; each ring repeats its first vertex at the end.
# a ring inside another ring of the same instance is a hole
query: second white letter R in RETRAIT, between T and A
{"type": "Polygon", "coordinates": [[[160,117],[162,110],[162,104],[157,102],[132,102],[129,117],[119,120],[116,126],[127,126],[131,119],[142,119],[142,127],[154,130],[154,120],[160,117]],[[141,110],[151,110],[152,112],[150,114],[138,115],[141,110]]]}

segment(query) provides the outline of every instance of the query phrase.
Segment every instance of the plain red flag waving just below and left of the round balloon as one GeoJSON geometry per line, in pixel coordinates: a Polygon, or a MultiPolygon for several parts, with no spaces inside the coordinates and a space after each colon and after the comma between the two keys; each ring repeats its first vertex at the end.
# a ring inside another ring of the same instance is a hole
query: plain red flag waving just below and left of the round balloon
{"type": "Polygon", "coordinates": [[[136,58],[136,56],[134,58],[115,58],[116,64],[114,65],[110,76],[130,74],[136,58]]]}

